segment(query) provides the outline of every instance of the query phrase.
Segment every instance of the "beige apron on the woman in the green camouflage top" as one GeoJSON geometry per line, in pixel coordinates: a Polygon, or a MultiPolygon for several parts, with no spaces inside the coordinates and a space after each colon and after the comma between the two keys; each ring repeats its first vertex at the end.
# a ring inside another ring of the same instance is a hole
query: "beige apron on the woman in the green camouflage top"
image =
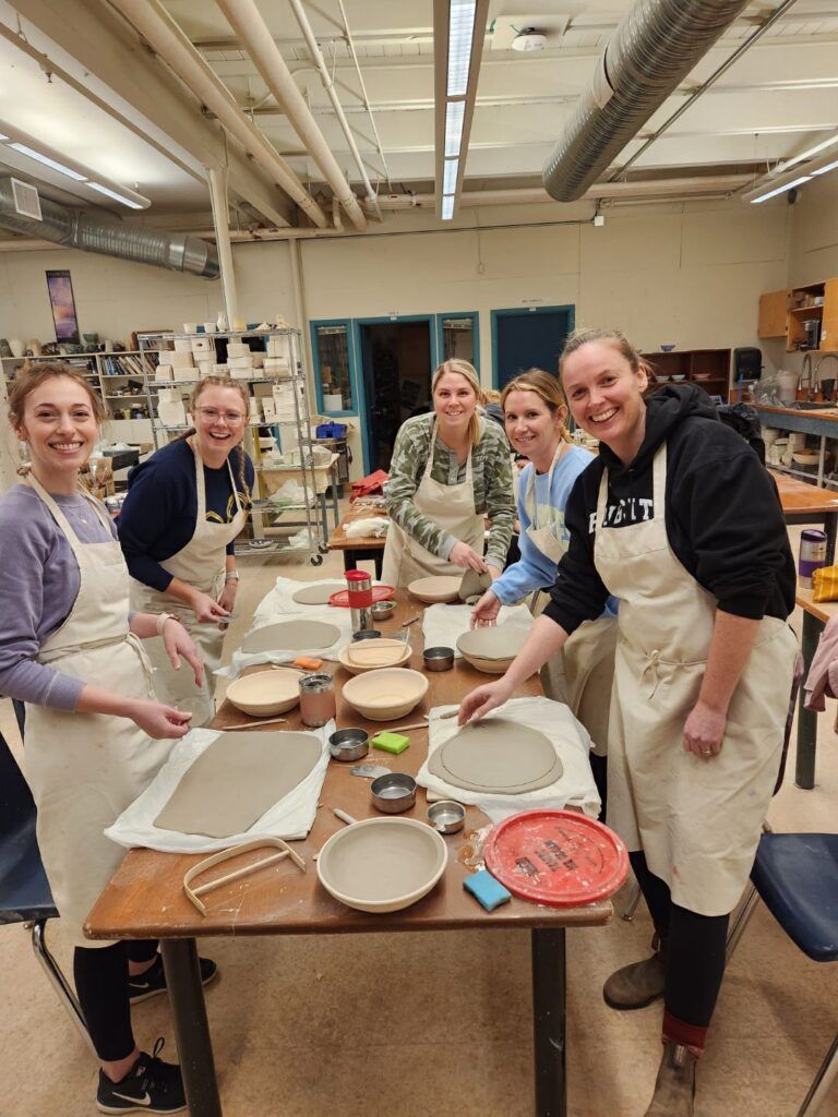
{"type": "MultiPolygon", "coordinates": [[[[475,512],[474,483],[472,480],[472,450],[468,451],[466,479],[456,485],[442,485],[430,475],[434,467],[434,445],[437,440],[437,423],[430,436],[428,462],[422,479],[413,495],[413,504],[422,516],[432,519],[449,535],[467,543],[478,555],[483,554],[483,514],[475,512]]],[[[409,585],[418,577],[435,574],[459,574],[464,570],[446,558],[438,558],[430,551],[411,538],[394,521],[390,521],[384,545],[381,580],[385,585],[409,585]]]]}

